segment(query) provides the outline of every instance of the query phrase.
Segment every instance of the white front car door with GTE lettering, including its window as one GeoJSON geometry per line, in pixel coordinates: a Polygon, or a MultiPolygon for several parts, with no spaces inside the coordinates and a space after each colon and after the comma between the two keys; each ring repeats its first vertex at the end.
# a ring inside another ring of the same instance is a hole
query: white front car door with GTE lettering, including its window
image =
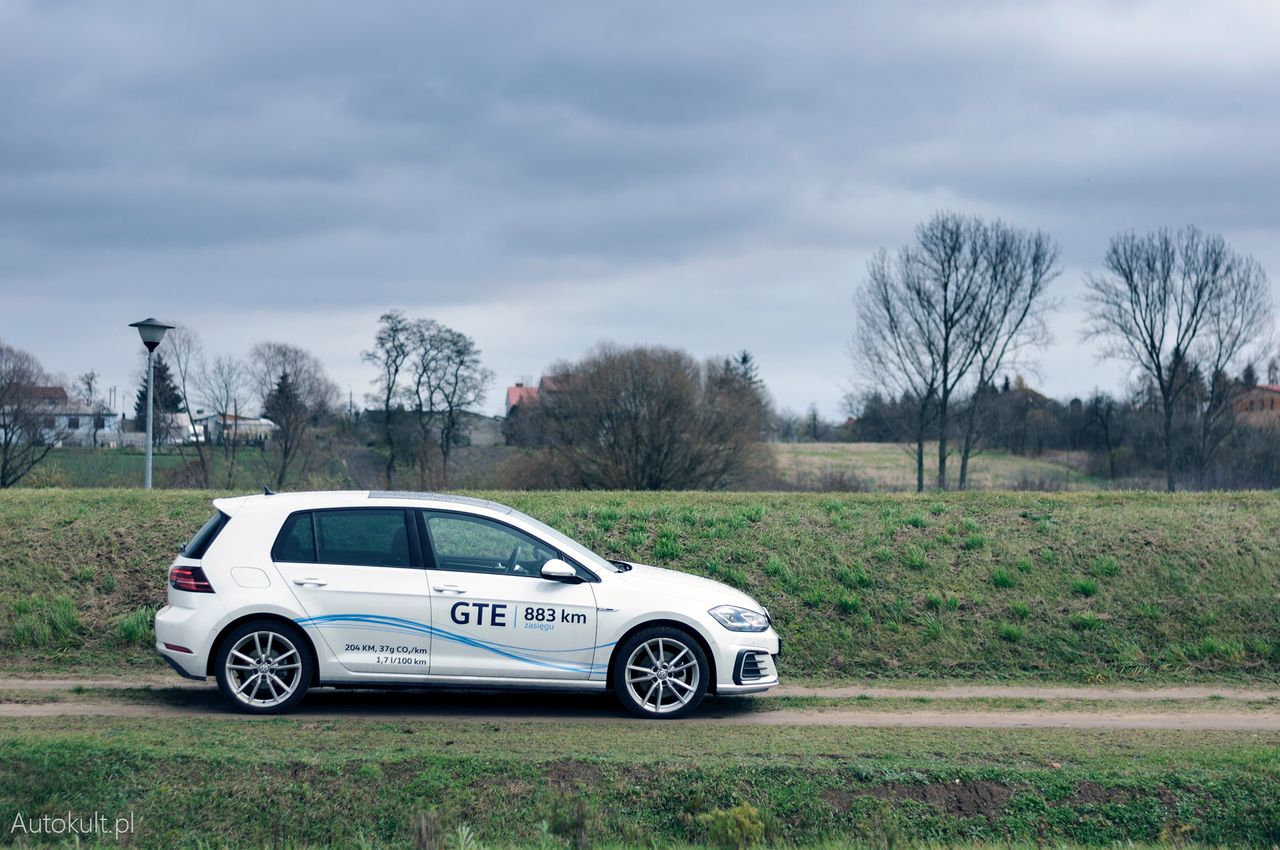
{"type": "MultiPolygon", "coordinates": [[[[419,513],[431,559],[433,676],[588,678],[596,657],[593,576],[540,576],[554,547],[497,520],[449,511],[419,513]]],[[[603,668],[603,667],[602,667],[603,668]]]]}

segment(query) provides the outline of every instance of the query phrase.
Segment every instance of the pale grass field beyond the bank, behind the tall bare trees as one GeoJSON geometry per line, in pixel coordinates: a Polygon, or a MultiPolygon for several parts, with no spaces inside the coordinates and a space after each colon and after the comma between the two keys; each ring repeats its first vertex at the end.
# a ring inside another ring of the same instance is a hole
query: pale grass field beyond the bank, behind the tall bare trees
{"type": "MultiPolygon", "coordinates": [[[[897,443],[774,443],[781,481],[815,490],[914,490],[915,448],[897,443]]],[[[1082,454],[1083,460],[1083,454],[1082,454]]],[[[924,449],[924,481],[937,480],[938,444],[924,449]]],[[[960,477],[960,456],[947,466],[960,477]]],[[[969,460],[969,485],[977,490],[1092,490],[1097,481],[1053,458],[982,452],[969,460]]]]}

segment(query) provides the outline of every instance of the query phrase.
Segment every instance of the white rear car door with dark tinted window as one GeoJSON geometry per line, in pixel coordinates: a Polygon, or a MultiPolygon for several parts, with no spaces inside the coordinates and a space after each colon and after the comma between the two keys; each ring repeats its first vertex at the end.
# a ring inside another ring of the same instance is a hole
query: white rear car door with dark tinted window
{"type": "Polygon", "coordinates": [[[428,673],[431,591],[411,511],[294,513],[271,557],[307,614],[298,625],[319,636],[346,670],[428,673]]]}

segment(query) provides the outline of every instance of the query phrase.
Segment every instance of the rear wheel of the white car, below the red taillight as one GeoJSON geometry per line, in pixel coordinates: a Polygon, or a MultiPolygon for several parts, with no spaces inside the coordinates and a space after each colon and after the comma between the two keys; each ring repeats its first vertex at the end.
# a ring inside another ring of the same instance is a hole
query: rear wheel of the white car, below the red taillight
{"type": "Polygon", "coordinates": [[[279,620],[241,623],[218,644],[218,687],[236,710],[282,714],[311,686],[315,662],[306,639],[279,620]]]}

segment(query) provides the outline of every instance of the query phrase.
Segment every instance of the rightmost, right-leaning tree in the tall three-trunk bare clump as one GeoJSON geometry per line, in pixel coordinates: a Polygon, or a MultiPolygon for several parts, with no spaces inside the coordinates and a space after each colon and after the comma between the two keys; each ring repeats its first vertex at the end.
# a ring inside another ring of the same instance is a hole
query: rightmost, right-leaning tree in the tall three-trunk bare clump
{"type": "Polygon", "coordinates": [[[982,243],[983,294],[972,324],[978,356],[960,453],[961,490],[969,481],[969,458],[978,438],[983,401],[1001,370],[1014,365],[1025,349],[1047,341],[1044,311],[1050,305],[1044,292],[1061,271],[1059,247],[1041,230],[1019,230],[995,221],[980,225],[977,238],[982,243]]]}

